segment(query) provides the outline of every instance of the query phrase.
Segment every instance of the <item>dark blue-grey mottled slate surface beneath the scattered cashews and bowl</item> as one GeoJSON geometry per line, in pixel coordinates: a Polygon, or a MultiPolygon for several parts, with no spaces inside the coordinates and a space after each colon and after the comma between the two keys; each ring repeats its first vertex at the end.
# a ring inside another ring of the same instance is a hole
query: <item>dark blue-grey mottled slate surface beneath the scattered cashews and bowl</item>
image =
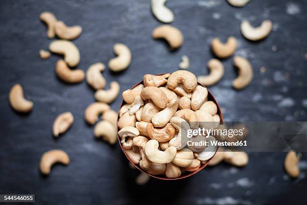
{"type": "MultiPolygon", "coordinates": [[[[54,71],[59,56],[43,61],[39,49],[51,40],[40,22],[42,11],[53,12],[68,25],[79,24],[82,35],[74,41],[81,52],[79,67],[114,57],[114,43],[126,44],[132,52],[127,70],[104,71],[110,82],[117,80],[121,91],[131,87],[145,73],[165,73],[177,69],[182,55],[191,60],[190,71],[206,74],[206,62],[213,57],[209,43],[233,35],[238,40],[237,55],[247,57],[254,69],[252,84],[235,91],[236,75],[232,59],[223,61],[225,75],[210,90],[216,96],[226,121],[305,121],[307,1],[252,0],[245,8],[231,7],[225,0],[170,0],[175,13],[172,25],[181,29],[185,42],[169,52],[163,41],[153,40],[151,31],[161,25],[151,14],[149,1],[11,1],[0,2],[0,193],[34,193],[38,204],[128,204],[171,202],[177,204],[305,204],[307,161],[300,164],[296,180],[283,170],[285,153],[251,153],[242,169],[226,164],[205,168],[180,181],[151,181],[139,187],[138,174],[127,165],[118,145],[95,140],[93,127],[83,120],[84,109],[94,101],[93,90],[82,82],[68,85],[54,71]],[[211,4],[214,3],[214,4],[211,4]],[[270,36],[253,43],[240,34],[247,19],[254,26],[264,19],[274,23],[270,36]],[[260,67],[266,68],[260,73],[260,67]],[[9,106],[8,92],[21,83],[25,96],[34,101],[29,115],[19,115],[9,106]],[[51,134],[55,117],[70,111],[72,128],[58,139],[51,134]],[[63,149],[71,158],[69,166],[57,165],[48,177],[39,172],[42,153],[63,149]]],[[[118,97],[111,105],[117,110],[118,97]]]]}

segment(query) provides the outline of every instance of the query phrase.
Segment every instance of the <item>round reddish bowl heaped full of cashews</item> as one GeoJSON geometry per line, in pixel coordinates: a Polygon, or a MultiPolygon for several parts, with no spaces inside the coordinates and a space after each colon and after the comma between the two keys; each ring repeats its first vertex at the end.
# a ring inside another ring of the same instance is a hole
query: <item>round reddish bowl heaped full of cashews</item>
{"type": "Polygon", "coordinates": [[[202,122],[216,127],[223,122],[216,99],[193,73],[146,74],[123,91],[122,98],[118,141],[138,170],[158,179],[182,179],[202,170],[215,155],[217,147],[208,151],[181,138],[183,122],[191,129],[202,127],[202,122]]]}

